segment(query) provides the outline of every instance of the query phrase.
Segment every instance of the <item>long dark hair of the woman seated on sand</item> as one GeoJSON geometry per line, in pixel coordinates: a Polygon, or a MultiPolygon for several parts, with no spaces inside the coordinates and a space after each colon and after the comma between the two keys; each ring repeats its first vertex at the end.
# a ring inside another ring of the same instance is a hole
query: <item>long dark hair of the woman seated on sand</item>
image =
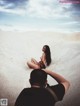
{"type": "Polygon", "coordinates": [[[50,48],[48,45],[44,45],[43,47],[45,47],[45,55],[46,55],[46,62],[47,62],[47,66],[50,65],[51,63],[51,52],[50,52],[50,48]]]}

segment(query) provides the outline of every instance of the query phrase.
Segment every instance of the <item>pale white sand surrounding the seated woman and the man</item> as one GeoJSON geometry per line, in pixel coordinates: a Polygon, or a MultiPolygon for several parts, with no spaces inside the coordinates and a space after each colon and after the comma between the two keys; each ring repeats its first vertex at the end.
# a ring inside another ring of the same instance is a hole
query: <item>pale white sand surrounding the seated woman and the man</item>
{"type": "MultiPolygon", "coordinates": [[[[0,98],[8,98],[9,106],[24,87],[30,87],[31,69],[26,62],[39,60],[43,45],[49,45],[52,64],[48,67],[71,83],[63,101],[56,106],[79,106],[80,101],[80,35],[53,32],[3,32],[0,31],[0,98]]],[[[52,79],[48,78],[52,84],[52,79]]],[[[55,81],[54,81],[55,84],[55,81]]]]}

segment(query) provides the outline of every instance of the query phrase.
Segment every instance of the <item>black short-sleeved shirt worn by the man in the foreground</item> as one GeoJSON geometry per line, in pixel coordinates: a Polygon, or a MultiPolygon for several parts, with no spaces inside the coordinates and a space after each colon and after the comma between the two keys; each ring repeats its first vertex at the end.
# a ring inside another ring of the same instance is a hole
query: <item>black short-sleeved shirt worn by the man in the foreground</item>
{"type": "MultiPolygon", "coordinates": [[[[50,86],[58,100],[62,100],[65,88],[62,84],[50,86]]],[[[55,100],[45,88],[25,88],[16,100],[15,106],[54,106],[55,100]]]]}

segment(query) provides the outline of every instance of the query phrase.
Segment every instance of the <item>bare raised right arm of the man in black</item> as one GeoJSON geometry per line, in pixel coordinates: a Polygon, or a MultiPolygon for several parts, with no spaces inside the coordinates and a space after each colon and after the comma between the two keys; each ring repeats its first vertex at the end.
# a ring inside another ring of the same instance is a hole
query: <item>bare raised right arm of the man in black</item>
{"type": "Polygon", "coordinates": [[[50,70],[47,70],[47,69],[44,69],[44,71],[48,75],[50,75],[52,78],[54,78],[58,83],[63,84],[63,86],[65,87],[65,92],[68,90],[68,88],[70,86],[70,83],[64,77],[62,77],[61,75],[59,75],[59,74],[57,74],[55,72],[52,72],[50,70]]]}

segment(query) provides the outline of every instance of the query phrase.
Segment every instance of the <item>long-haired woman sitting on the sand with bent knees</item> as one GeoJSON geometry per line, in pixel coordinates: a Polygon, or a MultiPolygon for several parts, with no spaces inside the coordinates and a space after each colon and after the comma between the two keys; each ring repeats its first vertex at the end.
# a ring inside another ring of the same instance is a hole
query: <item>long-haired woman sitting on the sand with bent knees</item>
{"type": "Polygon", "coordinates": [[[37,62],[35,59],[31,59],[31,61],[27,62],[29,68],[32,69],[45,69],[51,63],[51,52],[48,45],[44,45],[42,48],[43,54],[40,58],[40,61],[37,62]]]}

